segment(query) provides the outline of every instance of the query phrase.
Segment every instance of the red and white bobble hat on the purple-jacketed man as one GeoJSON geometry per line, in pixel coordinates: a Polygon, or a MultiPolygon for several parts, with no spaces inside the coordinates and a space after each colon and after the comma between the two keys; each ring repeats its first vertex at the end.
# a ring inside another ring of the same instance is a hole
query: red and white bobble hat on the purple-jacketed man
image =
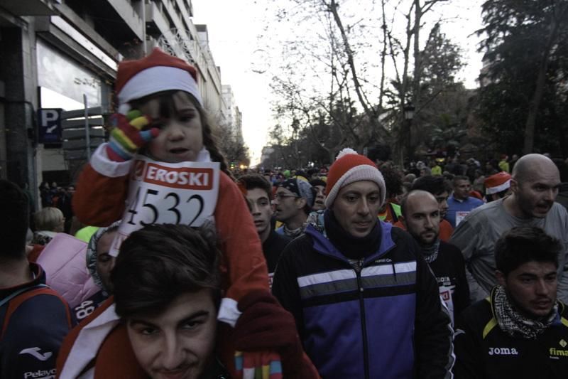
{"type": "Polygon", "coordinates": [[[377,166],[366,156],[357,154],[354,149],[343,149],[337,154],[327,173],[325,206],[331,208],[339,190],[356,181],[374,181],[381,190],[381,206],[385,203],[385,179],[377,166]]]}

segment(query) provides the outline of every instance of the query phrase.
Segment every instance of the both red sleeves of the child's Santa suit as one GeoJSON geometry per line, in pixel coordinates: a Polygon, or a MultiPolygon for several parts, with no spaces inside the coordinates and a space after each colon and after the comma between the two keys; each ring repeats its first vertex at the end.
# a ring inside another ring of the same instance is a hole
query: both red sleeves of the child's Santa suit
{"type": "MultiPolygon", "coordinates": [[[[98,151],[97,151],[98,152],[98,151]]],[[[73,210],[85,225],[108,226],[124,213],[129,175],[109,177],[87,164],[77,181],[73,210]]],[[[224,297],[238,302],[253,289],[268,289],[268,269],[249,208],[236,183],[219,175],[219,197],[214,212],[222,243],[224,297]]]]}

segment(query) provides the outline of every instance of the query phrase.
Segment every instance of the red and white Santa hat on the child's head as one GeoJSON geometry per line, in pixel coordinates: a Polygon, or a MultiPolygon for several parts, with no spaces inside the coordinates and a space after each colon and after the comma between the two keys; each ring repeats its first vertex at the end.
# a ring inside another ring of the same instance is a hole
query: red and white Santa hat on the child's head
{"type": "Polygon", "coordinates": [[[188,92],[203,105],[195,67],[159,48],[154,48],[145,58],[119,63],[115,90],[119,112],[123,114],[129,111],[131,100],[167,90],[188,92]]]}

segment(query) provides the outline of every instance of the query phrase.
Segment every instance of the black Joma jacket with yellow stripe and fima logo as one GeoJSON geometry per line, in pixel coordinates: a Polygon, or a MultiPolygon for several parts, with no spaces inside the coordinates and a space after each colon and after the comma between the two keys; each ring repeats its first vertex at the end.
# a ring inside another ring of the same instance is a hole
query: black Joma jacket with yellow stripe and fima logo
{"type": "Polygon", "coordinates": [[[536,339],[511,337],[493,314],[491,296],[461,313],[456,322],[455,378],[568,378],[568,311],[559,302],[552,325],[536,339]]]}

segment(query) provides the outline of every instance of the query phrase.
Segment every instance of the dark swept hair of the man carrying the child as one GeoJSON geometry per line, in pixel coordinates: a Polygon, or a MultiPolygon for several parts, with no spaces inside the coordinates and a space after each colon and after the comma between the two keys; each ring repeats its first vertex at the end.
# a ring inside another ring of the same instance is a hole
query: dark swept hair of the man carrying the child
{"type": "Polygon", "coordinates": [[[148,225],[120,247],[111,272],[116,314],[157,315],[176,297],[211,289],[219,306],[219,248],[209,227],[148,225]]]}

